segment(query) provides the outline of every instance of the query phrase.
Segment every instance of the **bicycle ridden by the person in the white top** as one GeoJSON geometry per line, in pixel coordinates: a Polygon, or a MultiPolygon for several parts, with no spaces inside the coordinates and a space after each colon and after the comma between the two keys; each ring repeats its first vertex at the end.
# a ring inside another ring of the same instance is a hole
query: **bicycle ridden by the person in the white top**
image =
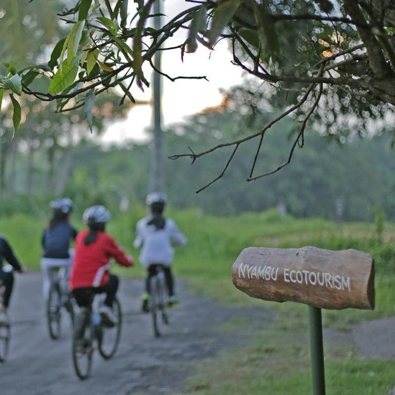
{"type": "Polygon", "coordinates": [[[155,265],[156,273],[149,280],[149,311],[155,337],[163,333],[163,324],[169,324],[166,298],[166,281],[163,265],[155,265]]]}

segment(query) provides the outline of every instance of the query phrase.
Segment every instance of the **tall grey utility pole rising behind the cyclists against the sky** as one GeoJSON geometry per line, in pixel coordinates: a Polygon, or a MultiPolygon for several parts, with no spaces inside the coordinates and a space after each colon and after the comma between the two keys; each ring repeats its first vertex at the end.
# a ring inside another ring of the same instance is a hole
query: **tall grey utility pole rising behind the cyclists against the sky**
{"type": "MultiPolygon", "coordinates": [[[[153,3],[154,28],[161,28],[161,0],[153,3]]],[[[156,70],[161,69],[161,51],[154,55],[154,66],[156,70]]],[[[162,106],[161,106],[161,74],[153,72],[153,156],[151,162],[151,174],[149,192],[160,191],[164,188],[164,166],[163,166],[163,131],[162,131],[162,106]]]]}

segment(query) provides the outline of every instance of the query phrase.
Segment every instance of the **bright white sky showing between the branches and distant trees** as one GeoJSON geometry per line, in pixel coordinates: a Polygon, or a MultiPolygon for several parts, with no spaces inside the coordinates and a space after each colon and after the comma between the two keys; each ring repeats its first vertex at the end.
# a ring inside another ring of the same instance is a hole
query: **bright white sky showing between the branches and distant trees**
{"type": "MultiPolygon", "coordinates": [[[[132,2],[129,2],[129,4],[132,2]]],[[[134,3],[132,3],[133,5],[134,3]]],[[[134,6],[135,7],[135,6],[134,6]]],[[[191,7],[185,0],[164,0],[161,4],[162,13],[167,17],[177,15],[183,7],[191,7]]],[[[180,36],[175,37],[179,43],[180,36]]],[[[167,47],[170,44],[166,45],[167,47]]],[[[226,89],[242,83],[242,70],[231,64],[231,54],[227,44],[218,43],[214,51],[199,44],[195,53],[185,53],[181,60],[181,50],[164,51],[162,54],[162,70],[172,77],[206,76],[207,80],[176,80],[162,78],[162,128],[178,123],[186,117],[203,110],[217,106],[223,96],[220,89],[226,89]]],[[[146,77],[151,81],[150,68],[146,69],[146,77]]],[[[132,90],[136,100],[149,101],[151,88],[141,92],[138,88],[132,90]]],[[[144,132],[152,124],[152,107],[150,105],[134,106],[124,121],[113,122],[102,137],[105,144],[119,143],[124,140],[144,141],[144,132]]]]}

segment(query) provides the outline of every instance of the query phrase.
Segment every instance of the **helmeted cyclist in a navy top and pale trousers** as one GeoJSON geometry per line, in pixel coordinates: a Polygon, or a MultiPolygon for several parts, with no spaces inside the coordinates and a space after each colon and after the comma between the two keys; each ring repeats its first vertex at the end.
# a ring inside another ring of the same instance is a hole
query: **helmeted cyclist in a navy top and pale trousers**
{"type": "Polygon", "coordinates": [[[61,267],[65,268],[61,287],[65,291],[64,295],[67,293],[68,277],[74,255],[74,250],[70,249],[70,243],[77,235],[77,230],[69,223],[73,211],[72,201],[68,198],[61,198],[51,201],[49,206],[53,209],[53,214],[41,238],[44,302],[48,299],[53,271],[57,271],[61,267]]]}

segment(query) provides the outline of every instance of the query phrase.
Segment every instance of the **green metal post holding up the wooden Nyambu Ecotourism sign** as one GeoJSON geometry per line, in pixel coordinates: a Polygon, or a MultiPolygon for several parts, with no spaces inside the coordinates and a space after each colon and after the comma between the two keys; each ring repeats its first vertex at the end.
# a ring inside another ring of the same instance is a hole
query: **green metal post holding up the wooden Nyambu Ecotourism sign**
{"type": "Polygon", "coordinates": [[[325,395],[324,346],[321,308],[308,306],[313,395],[325,395]]]}

